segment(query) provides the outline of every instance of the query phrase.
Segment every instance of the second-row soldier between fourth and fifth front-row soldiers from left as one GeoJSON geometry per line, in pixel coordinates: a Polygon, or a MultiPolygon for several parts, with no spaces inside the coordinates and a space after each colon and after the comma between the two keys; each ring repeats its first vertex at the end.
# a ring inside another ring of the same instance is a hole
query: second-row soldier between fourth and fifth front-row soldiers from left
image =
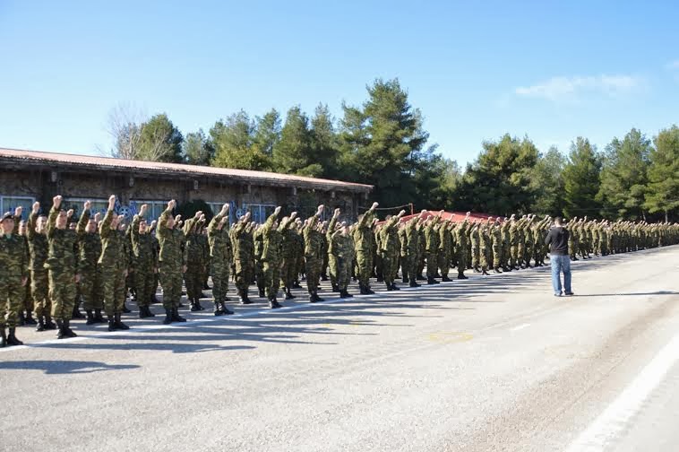
{"type": "Polygon", "coordinates": [[[193,218],[186,220],[184,223],[184,246],[186,255],[184,281],[186,285],[186,296],[189,299],[193,312],[204,309],[201,306],[200,301],[203,283],[202,265],[204,260],[200,230],[204,222],[205,215],[203,215],[201,211],[198,211],[193,218]]]}

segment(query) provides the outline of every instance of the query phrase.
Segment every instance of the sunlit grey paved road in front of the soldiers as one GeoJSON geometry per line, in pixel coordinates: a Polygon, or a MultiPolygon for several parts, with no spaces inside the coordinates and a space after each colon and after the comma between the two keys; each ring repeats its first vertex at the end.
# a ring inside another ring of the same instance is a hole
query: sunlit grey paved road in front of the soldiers
{"type": "Polygon", "coordinates": [[[679,248],[573,270],[572,298],[540,268],[68,341],[21,328],[0,450],[675,450],[679,248]]]}

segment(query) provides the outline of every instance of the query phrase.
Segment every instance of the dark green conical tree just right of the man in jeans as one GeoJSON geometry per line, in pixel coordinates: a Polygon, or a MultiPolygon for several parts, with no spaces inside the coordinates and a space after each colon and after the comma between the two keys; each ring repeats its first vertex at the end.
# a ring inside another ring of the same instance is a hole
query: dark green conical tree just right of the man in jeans
{"type": "Polygon", "coordinates": [[[563,170],[565,207],[567,217],[584,217],[598,212],[600,204],[595,196],[599,191],[601,157],[596,146],[579,136],[571,143],[571,153],[563,170]]]}

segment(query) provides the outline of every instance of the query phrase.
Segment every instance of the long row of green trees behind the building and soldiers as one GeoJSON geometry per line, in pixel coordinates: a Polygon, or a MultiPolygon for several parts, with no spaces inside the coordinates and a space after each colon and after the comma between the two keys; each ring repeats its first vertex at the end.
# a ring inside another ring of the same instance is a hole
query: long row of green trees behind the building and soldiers
{"type": "Polygon", "coordinates": [[[603,151],[585,137],[567,154],[540,152],[528,136],[482,143],[461,170],[429,143],[422,112],[398,81],[377,79],[361,105],[326,104],[307,115],[271,109],[251,117],[240,110],[206,133],[182,135],[165,113],[148,119],[123,109],[109,117],[112,155],[242,170],[274,171],[371,184],[385,206],[417,209],[563,214],[626,220],[670,220],[679,213],[679,128],[649,138],[632,128],[603,151]]]}

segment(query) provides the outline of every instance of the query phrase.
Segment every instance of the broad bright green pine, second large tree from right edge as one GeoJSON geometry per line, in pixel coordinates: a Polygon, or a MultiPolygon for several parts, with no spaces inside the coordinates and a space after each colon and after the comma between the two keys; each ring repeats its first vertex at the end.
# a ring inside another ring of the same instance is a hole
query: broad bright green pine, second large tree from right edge
{"type": "Polygon", "coordinates": [[[633,128],[623,140],[614,138],[606,146],[602,161],[601,187],[596,199],[602,214],[625,219],[644,218],[650,140],[633,128]]]}

